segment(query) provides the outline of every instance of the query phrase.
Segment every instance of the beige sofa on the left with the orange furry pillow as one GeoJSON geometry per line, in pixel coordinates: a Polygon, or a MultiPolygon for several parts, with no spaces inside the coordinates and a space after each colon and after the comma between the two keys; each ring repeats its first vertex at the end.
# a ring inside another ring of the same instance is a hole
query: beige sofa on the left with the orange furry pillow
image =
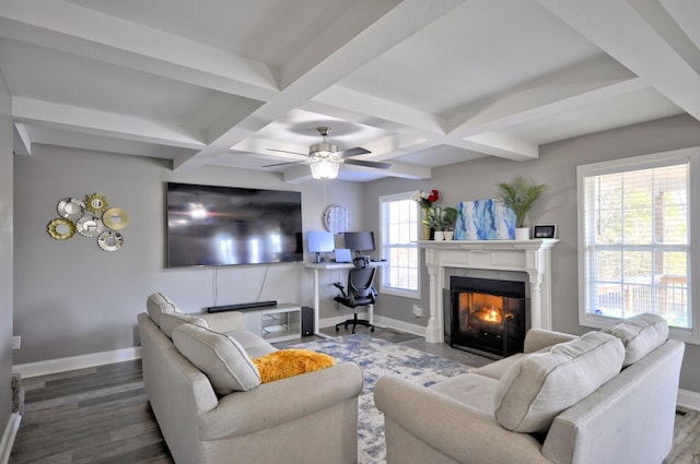
{"type": "MultiPolygon", "coordinates": [[[[219,372],[247,390],[222,394],[219,385],[217,393],[212,382],[220,381],[219,374],[210,373],[210,381],[176,345],[190,349],[195,344],[199,355],[206,353],[201,346],[218,352],[222,349],[215,345],[222,340],[218,334],[225,333],[224,350],[243,348],[243,355],[256,358],[276,348],[243,331],[240,312],[183,314],[161,294],[151,295],[147,306],[148,313],[138,316],[143,381],[177,464],[357,462],[358,395],[363,382],[357,365],[337,364],[256,384],[257,372],[246,359],[240,359],[242,366],[224,366],[214,353],[208,356],[217,358],[211,362],[219,364],[214,366],[222,368],[219,372]]],[[[191,349],[187,355],[201,362],[191,349]]]]}

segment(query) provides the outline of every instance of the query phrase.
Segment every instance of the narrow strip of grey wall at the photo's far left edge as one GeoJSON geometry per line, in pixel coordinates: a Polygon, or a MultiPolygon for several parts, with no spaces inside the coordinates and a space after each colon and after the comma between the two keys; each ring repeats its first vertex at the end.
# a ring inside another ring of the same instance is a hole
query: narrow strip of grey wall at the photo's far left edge
{"type": "Polygon", "coordinates": [[[0,435],[12,411],[12,118],[0,74],[0,435]]]}

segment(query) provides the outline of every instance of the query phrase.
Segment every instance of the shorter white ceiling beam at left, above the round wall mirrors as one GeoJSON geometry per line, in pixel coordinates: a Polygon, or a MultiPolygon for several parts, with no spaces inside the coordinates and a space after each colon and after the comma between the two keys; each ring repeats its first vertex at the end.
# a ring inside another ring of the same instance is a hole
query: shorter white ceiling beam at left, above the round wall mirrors
{"type": "Polygon", "coordinates": [[[19,122],[58,127],[80,133],[184,148],[199,150],[205,146],[202,134],[194,129],[31,98],[12,97],[12,115],[19,122]]]}

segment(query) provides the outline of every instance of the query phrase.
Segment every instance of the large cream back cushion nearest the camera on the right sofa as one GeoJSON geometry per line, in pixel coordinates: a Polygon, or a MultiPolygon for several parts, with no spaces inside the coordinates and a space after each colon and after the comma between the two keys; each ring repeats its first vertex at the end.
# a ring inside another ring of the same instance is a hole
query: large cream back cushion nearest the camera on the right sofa
{"type": "Polygon", "coordinates": [[[495,419],[517,432],[547,431],[559,413],[617,376],[623,359],[622,342],[602,332],[530,354],[499,381],[495,419]]]}

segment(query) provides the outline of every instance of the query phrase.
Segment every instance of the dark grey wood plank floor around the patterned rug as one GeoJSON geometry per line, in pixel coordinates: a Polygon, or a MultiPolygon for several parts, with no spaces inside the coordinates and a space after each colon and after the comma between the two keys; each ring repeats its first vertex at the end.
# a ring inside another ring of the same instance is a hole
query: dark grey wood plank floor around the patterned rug
{"type": "MultiPolygon", "coordinates": [[[[377,328],[372,335],[430,350],[423,338],[400,332],[377,328]]],[[[488,362],[446,345],[432,347],[469,366],[488,362]]],[[[10,464],[173,463],[145,397],[140,360],[24,379],[23,385],[24,415],[10,464]]]]}

